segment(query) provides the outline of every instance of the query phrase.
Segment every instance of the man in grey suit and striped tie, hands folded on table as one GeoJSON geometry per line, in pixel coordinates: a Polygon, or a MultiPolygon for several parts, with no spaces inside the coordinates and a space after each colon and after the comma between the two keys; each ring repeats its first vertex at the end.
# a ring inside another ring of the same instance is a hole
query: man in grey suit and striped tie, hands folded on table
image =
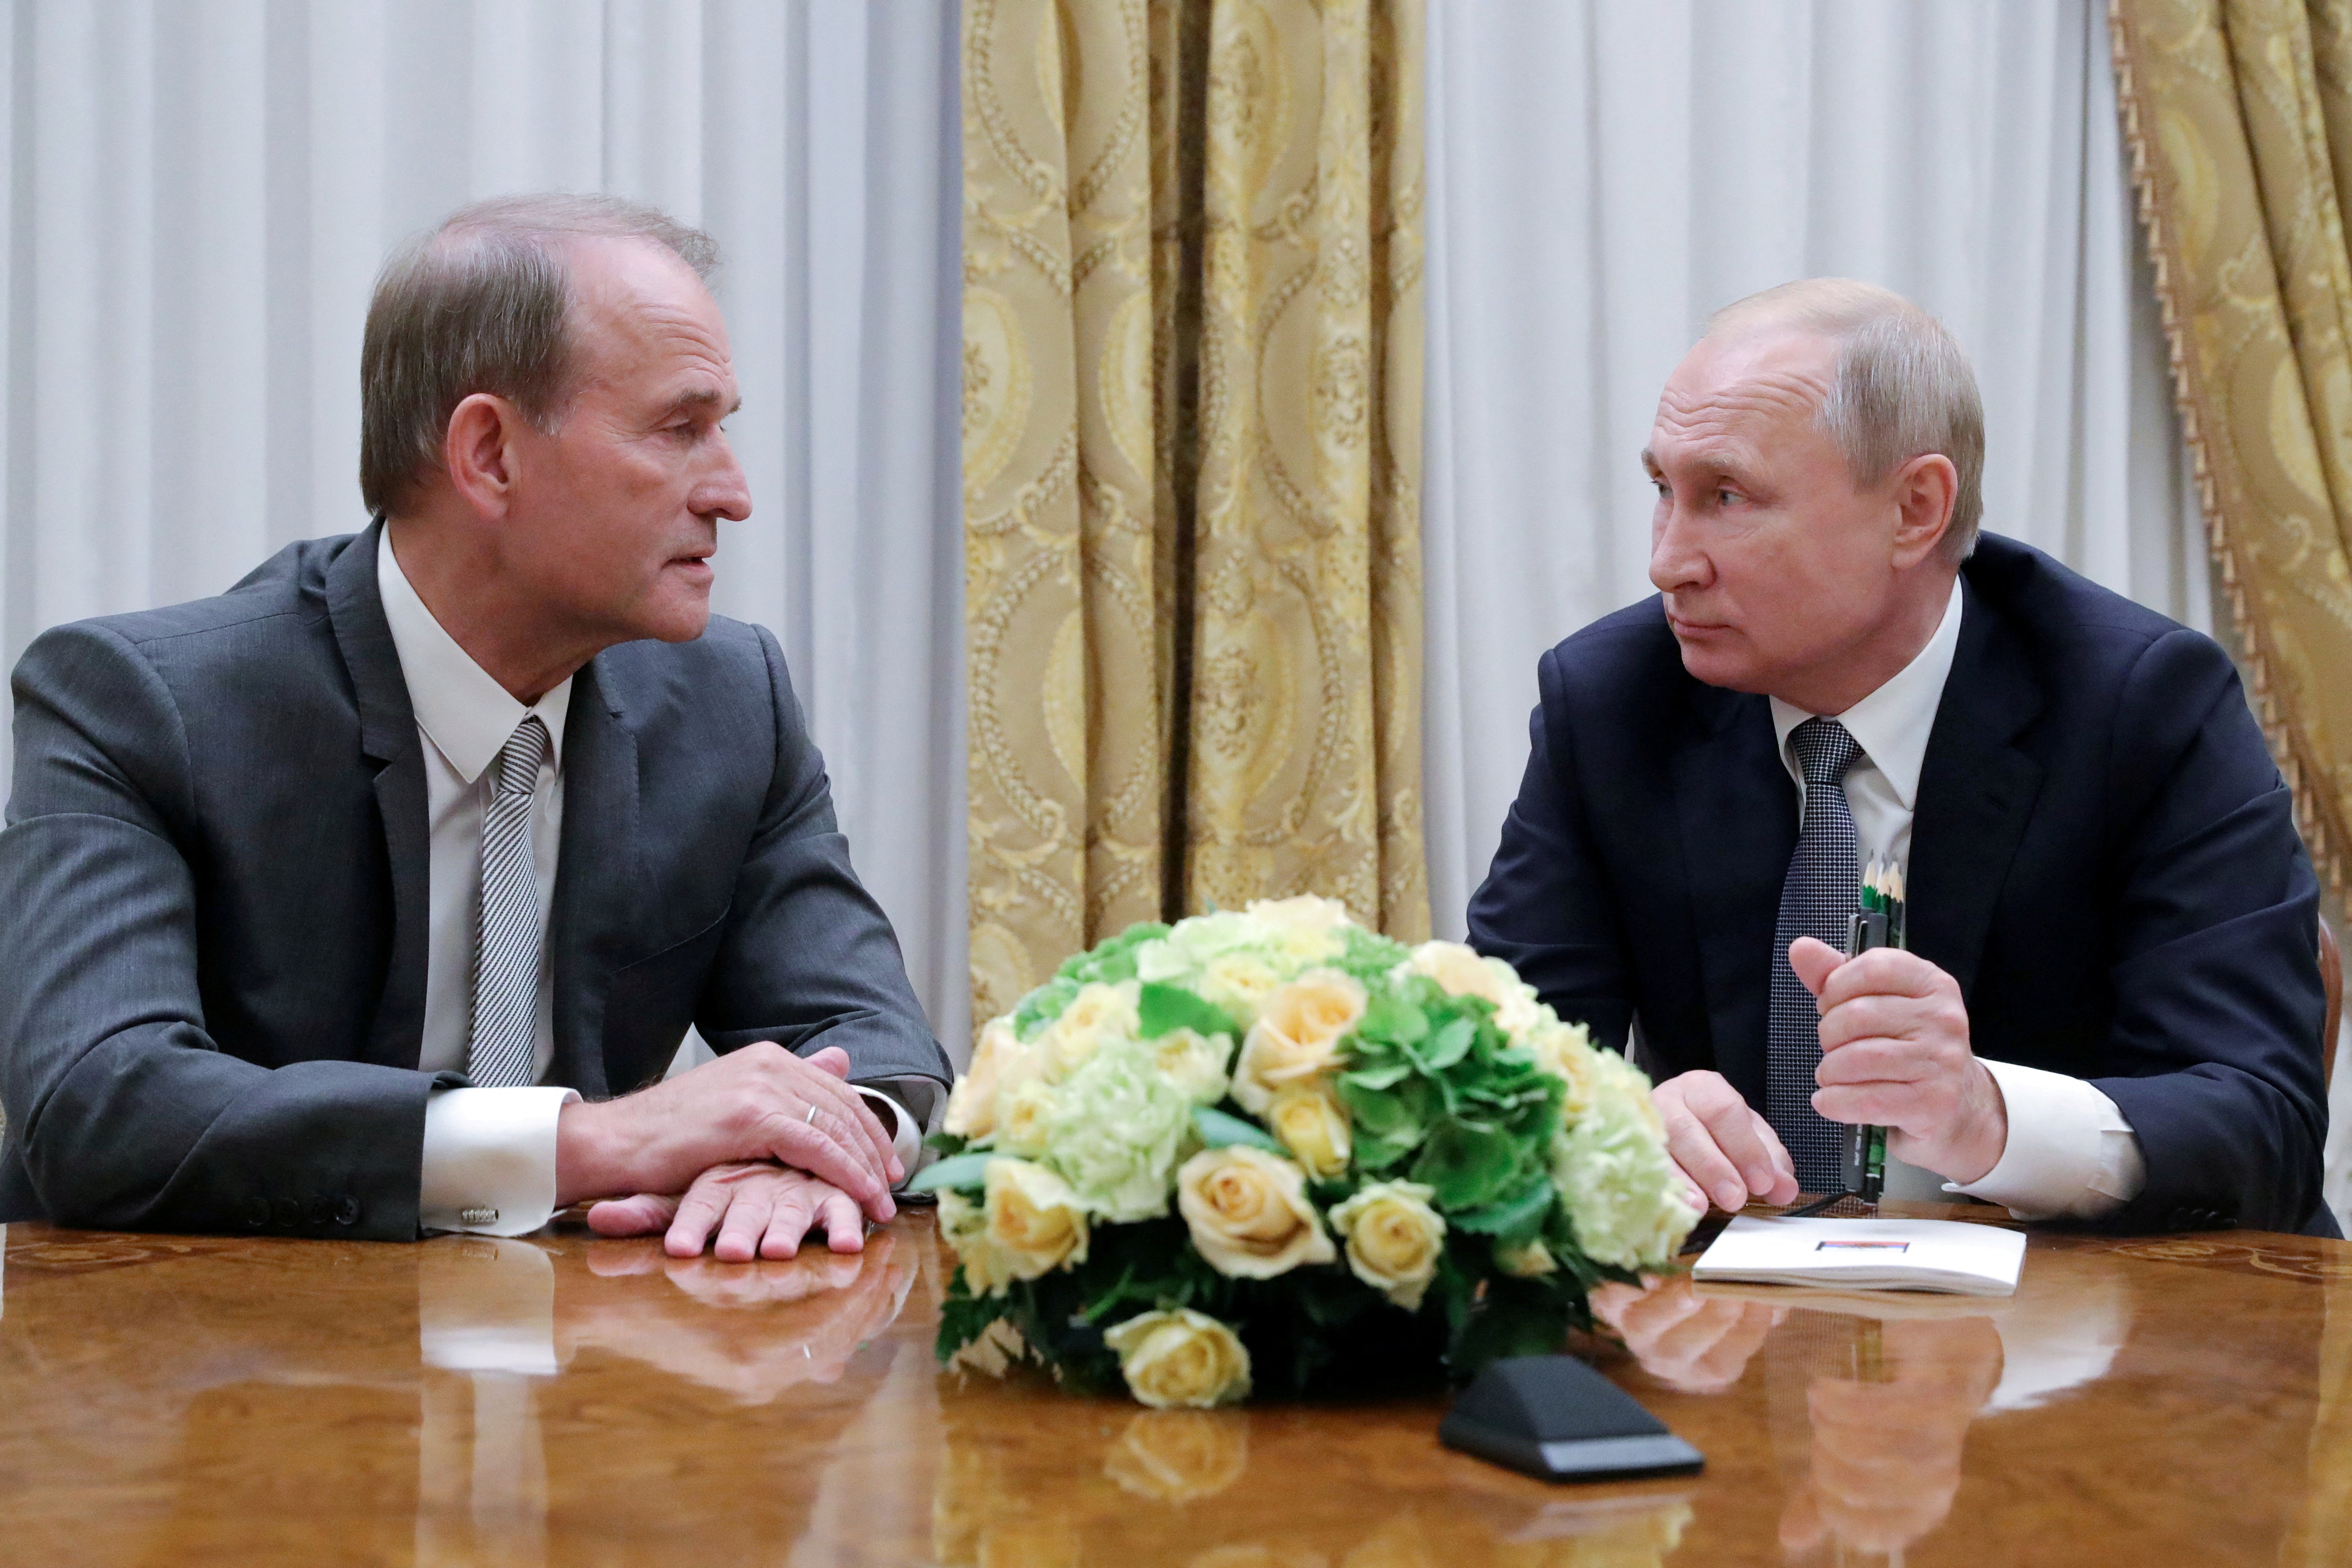
{"type": "Polygon", "coordinates": [[[16,665],[0,1218],[412,1239],[600,1199],[854,1251],[948,1063],[769,632],[710,240],[452,216],[376,284],[374,524],[16,665]],[[687,1025],[720,1053],[663,1081],[687,1025]]]}

